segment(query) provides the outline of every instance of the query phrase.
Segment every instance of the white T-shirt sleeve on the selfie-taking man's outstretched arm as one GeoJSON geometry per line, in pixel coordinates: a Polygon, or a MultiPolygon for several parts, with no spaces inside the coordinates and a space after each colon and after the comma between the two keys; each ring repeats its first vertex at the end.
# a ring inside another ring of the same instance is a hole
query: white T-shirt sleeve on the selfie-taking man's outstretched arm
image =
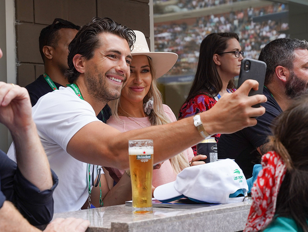
{"type": "Polygon", "coordinates": [[[43,144],[56,143],[65,151],[68,142],[83,126],[99,121],[92,106],[69,87],[41,97],[32,108],[32,117],[43,144]]]}

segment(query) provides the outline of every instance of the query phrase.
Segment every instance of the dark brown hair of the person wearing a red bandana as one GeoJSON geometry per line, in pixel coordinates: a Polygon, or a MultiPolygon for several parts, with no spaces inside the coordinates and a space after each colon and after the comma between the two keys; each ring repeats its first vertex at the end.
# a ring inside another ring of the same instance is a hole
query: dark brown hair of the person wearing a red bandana
{"type": "Polygon", "coordinates": [[[274,124],[270,144],[287,167],[277,197],[276,215],[292,217],[308,232],[308,95],[296,98],[274,124]]]}

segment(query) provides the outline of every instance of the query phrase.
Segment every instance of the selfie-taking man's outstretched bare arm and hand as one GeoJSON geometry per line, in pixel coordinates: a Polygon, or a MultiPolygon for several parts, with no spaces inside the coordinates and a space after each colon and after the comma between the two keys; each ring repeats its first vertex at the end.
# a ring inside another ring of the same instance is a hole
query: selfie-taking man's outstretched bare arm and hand
{"type": "MultiPolygon", "coordinates": [[[[257,81],[247,80],[237,91],[224,94],[213,108],[202,112],[200,116],[205,131],[209,135],[229,134],[256,125],[257,120],[252,117],[264,114],[265,108],[251,106],[266,102],[267,99],[264,95],[248,97],[252,88],[258,88],[257,81]]],[[[153,139],[154,163],[159,163],[204,138],[194,126],[193,117],[124,133],[101,122],[91,122],[71,138],[67,152],[86,163],[103,164],[123,170],[128,168],[130,139],[153,139]]]]}

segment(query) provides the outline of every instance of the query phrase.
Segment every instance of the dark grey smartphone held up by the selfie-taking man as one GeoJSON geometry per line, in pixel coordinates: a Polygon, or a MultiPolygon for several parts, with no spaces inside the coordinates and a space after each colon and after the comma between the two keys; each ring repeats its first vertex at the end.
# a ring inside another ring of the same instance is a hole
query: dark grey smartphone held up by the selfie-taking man
{"type": "MultiPolygon", "coordinates": [[[[248,79],[256,80],[259,82],[259,89],[251,89],[248,96],[253,96],[255,94],[263,94],[264,78],[266,73],[266,64],[260,60],[253,60],[245,58],[241,62],[241,71],[238,78],[237,88],[243,84],[244,81],[248,79]]],[[[252,107],[260,107],[260,103],[252,107]]]]}

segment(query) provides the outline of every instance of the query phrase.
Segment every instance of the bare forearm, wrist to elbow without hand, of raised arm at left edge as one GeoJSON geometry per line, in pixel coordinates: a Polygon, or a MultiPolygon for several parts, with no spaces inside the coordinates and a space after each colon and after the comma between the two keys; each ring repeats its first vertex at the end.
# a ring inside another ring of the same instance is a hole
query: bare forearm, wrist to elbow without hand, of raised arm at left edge
{"type": "Polygon", "coordinates": [[[50,166],[34,122],[12,131],[17,165],[22,175],[41,191],[52,187],[50,166]]]}

